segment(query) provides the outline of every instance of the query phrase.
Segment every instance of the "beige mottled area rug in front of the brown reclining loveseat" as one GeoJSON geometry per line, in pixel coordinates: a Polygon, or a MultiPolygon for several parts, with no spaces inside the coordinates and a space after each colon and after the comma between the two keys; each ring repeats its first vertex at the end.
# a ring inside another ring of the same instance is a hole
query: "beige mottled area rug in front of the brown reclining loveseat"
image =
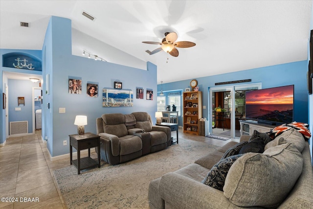
{"type": "Polygon", "coordinates": [[[217,148],[180,138],[179,144],[127,163],[109,165],[101,161],[100,168],[83,170],[79,175],[73,165],[53,172],[69,209],[147,209],[151,180],[217,148]]]}

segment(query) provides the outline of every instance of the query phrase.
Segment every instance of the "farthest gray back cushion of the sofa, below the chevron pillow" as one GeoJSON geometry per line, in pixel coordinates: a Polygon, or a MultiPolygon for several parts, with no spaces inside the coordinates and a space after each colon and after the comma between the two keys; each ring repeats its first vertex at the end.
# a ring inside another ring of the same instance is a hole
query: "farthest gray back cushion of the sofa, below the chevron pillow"
{"type": "Polygon", "coordinates": [[[288,131],[284,131],[276,139],[268,142],[268,144],[265,145],[264,149],[267,150],[269,147],[277,146],[279,144],[282,144],[281,141],[283,141],[283,139],[285,139],[288,142],[291,142],[299,150],[299,152],[302,152],[302,150],[303,150],[303,148],[305,146],[305,140],[302,137],[302,134],[300,134],[294,128],[291,128],[288,131]],[[282,140],[280,140],[280,139],[282,139],[282,140]]]}

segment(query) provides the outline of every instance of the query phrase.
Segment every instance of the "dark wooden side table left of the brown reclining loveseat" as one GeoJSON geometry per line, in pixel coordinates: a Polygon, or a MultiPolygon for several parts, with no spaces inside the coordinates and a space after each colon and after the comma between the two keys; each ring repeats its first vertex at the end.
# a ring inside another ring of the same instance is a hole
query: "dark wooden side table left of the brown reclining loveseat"
{"type": "Polygon", "coordinates": [[[69,135],[69,154],[70,164],[74,164],[77,167],[77,174],[80,174],[81,170],[94,167],[98,165],[100,167],[100,137],[92,134],[85,133],[83,135],[73,134],[69,135]],[[73,160],[72,150],[74,147],[77,150],[77,160],[73,160]],[[90,148],[98,147],[98,162],[90,158],[90,148]],[[80,158],[80,151],[88,149],[88,157],[80,158]]]}

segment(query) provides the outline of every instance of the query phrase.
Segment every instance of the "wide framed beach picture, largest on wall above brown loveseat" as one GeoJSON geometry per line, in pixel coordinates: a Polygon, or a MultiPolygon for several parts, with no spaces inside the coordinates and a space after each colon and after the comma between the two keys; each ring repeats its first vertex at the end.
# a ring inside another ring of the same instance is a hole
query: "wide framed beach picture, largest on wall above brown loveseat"
{"type": "Polygon", "coordinates": [[[102,107],[132,107],[134,93],[132,90],[104,88],[102,90],[102,107]]]}

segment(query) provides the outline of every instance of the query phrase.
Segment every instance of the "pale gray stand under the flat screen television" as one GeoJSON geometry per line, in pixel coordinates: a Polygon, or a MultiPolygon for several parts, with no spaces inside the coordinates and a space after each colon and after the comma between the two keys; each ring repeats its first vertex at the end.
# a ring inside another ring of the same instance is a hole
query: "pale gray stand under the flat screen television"
{"type": "Polygon", "coordinates": [[[239,120],[240,122],[240,136],[252,135],[254,130],[260,133],[270,132],[276,125],[262,124],[255,120],[239,120]]]}

